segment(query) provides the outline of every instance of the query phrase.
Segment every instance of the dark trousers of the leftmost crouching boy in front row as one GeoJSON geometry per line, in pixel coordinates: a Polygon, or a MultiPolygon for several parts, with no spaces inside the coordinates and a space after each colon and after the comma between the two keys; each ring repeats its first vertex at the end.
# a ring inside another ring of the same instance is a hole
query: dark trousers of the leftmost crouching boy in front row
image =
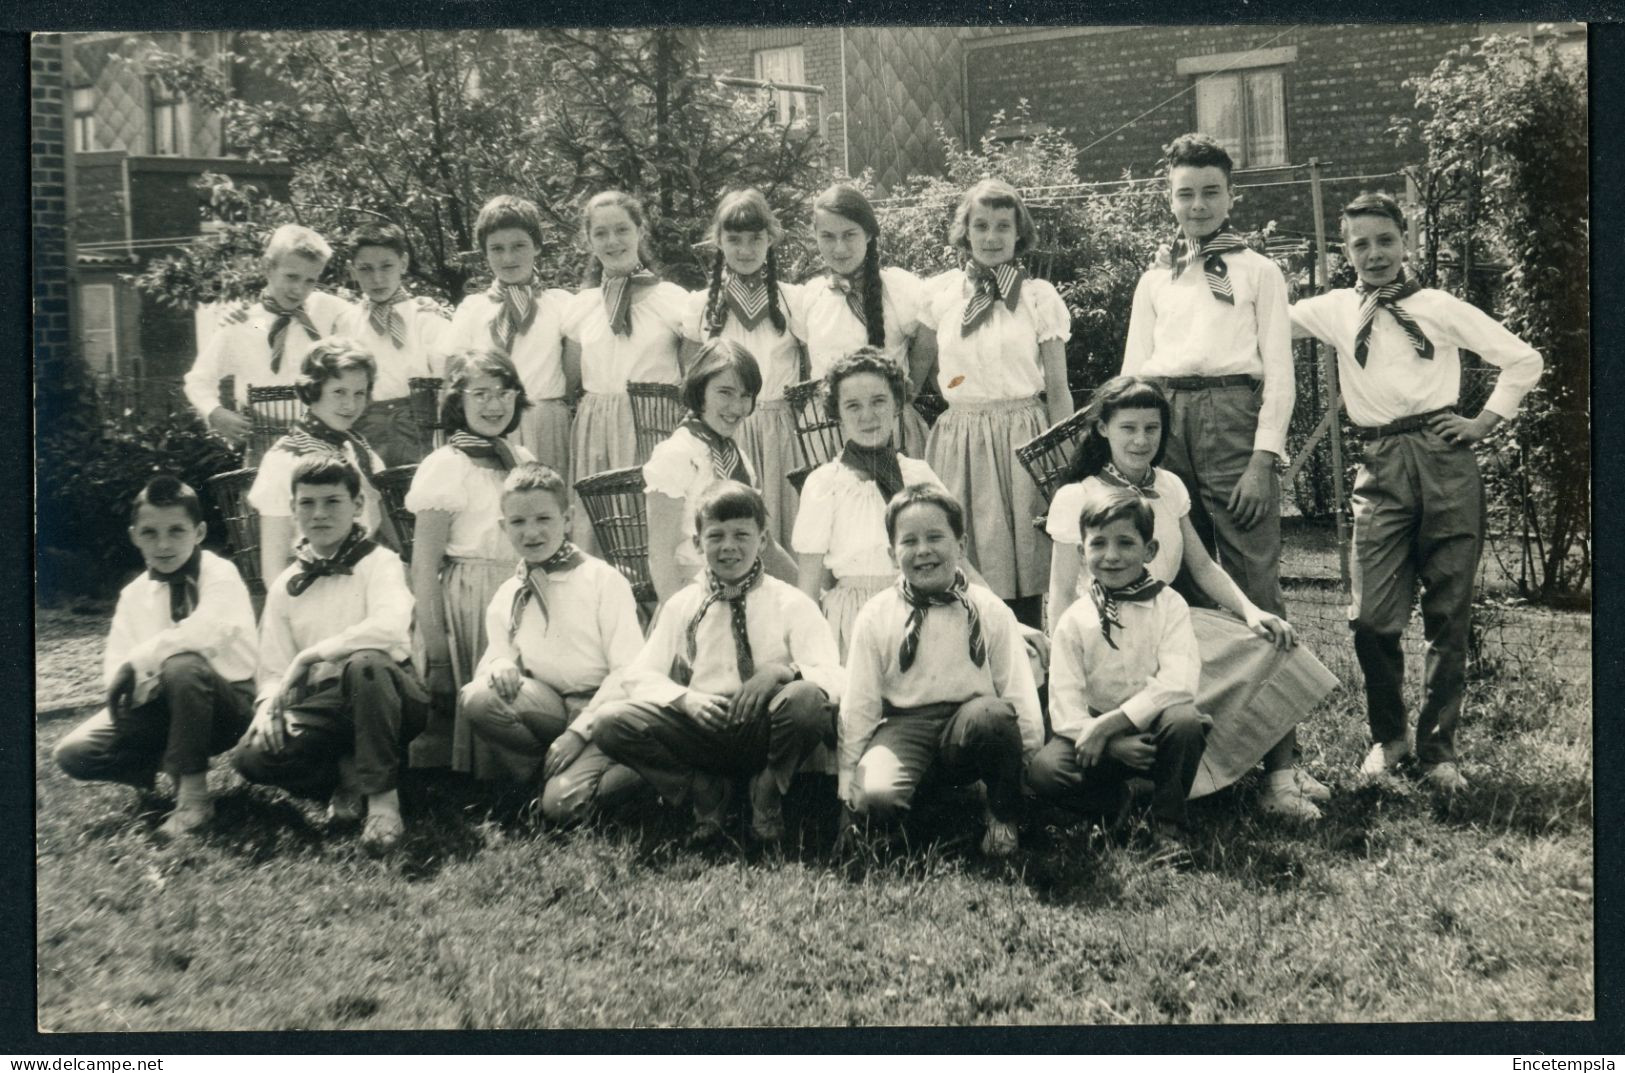
{"type": "Polygon", "coordinates": [[[102,709],[57,743],[57,766],[75,779],[145,785],[153,774],[195,775],[237,743],[254,719],[254,683],[226,681],[195,652],[164,660],[158,693],[114,722],[102,709]]]}

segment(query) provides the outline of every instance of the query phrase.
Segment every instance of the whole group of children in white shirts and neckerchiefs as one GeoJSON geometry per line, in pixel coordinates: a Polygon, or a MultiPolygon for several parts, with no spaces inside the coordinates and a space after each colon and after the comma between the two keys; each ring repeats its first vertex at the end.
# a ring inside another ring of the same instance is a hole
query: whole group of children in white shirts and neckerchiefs
{"type": "Polygon", "coordinates": [[[556,823],[653,788],[694,810],[697,839],[723,831],[736,784],[752,834],[782,839],[783,793],[809,769],[837,775],[852,818],[895,818],[926,782],[980,784],[991,855],[1016,849],[1024,797],[1098,813],[1147,797],[1159,857],[1180,860],[1186,800],[1261,759],[1259,806],[1313,821],[1331,793],[1297,766],[1294,728],[1336,683],[1297,644],[1279,584],[1298,333],[1336,348],[1370,441],[1350,608],[1362,771],[1414,748],[1430,784],[1461,788],[1484,525],[1469,445],[1516,413],[1540,358],[1419,288],[1393,198],[1344,210],[1358,286],[1289,307],[1280,272],[1228,224],[1225,151],[1186,135],[1167,167],[1178,234],[1136,289],[1123,376],[1094,392],[1050,504],[1014,449],[1071,415],[1069,314],[1020,268],[1035,229],[1006,184],[965,193],[951,228],[965,267],[930,281],[881,267],[873,206],[835,185],[812,205],[824,273],[785,283],[765,198],[730,193],[696,294],[648,272],[642,208],[619,192],[587,205],[588,286],[544,289],[540,213],[497,197],[476,224],[492,285],[450,324],[403,296],[398,231],[362,229],[366,302],[330,309],[312,293],[325,242],[280,229],[263,299],[187,385],[228,437],[245,426],[214,397],[221,376],[239,395],[292,382],[307,408],[250,493],[263,618],[255,629],[236,571],[198,546],[195,493],[153,481],[132,512],[148,571],[120,595],[107,709],[58,762],[135,784],[162,766],[177,806],[161,831],[182,836],[208,821],[208,756],[236,746],[247,779],[328,797],[375,849],[401,837],[408,758],[528,782],[556,823]],[[1502,367],[1471,419],[1453,413],[1458,348],[1502,367]],[[908,402],[933,372],[947,411],[926,432],[908,402]],[[440,374],[447,442],[413,458],[403,385],[440,374]],[[809,376],[843,447],[798,494],[783,395],[809,376]],[[570,493],[635,465],[634,380],[681,384],[689,410],[644,465],[647,639],[570,493]],[[410,582],[370,483],[400,458],[419,463],[410,582]],[[1417,580],[1428,667],[1412,746],[1399,634],[1417,580]]]}

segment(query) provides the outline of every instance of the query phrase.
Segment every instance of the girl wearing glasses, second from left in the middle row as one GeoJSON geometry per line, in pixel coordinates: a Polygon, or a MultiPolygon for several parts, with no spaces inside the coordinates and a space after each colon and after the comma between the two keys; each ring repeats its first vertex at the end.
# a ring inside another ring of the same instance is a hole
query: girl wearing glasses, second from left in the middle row
{"type": "Polygon", "coordinates": [[[496,351],[468,350],[447,363],[440,423],[447,444],[418,465],[406,509],[418,515],[411,587],[418,631],[436,699],[427,728],[413,741],[414,767],[444,767],[496,777],[500,769],[476,741],[457,691],[486,650],[486,608],[514,576],[514,548],[502,533],[502,481],[517,462],[535,462],[502,437],[518,428],[530,400],[514,363],[496,351]]]}

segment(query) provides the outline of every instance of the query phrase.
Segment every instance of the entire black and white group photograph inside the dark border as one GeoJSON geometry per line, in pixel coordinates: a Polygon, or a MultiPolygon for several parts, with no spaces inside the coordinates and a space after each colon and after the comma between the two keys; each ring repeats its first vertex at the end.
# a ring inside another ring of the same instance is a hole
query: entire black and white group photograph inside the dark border
{"type": "Polygon", "coordinates": [[[37,1031],[1594,1021],[1589,39],[32,34],[37,1031]]]}

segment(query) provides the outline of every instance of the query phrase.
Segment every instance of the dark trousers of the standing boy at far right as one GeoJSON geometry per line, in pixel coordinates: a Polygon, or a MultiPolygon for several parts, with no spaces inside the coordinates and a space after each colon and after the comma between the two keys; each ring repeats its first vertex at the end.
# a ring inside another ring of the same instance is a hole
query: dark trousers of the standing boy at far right
{"type": "Polygon", "coordinates": [[[1427,663],[1417,715],[1417,758],[1456,759],[1456,722],[1467,678],[1472,582],[1484,548],[1484,480],[1472,447],[1432,429],[1381,436],[1365,445],[1354,480],[1354,602],[1349,624],[1365,675],[1375,741],[1406,736],[1399,636],[1422,582],[1427,663]]]}

